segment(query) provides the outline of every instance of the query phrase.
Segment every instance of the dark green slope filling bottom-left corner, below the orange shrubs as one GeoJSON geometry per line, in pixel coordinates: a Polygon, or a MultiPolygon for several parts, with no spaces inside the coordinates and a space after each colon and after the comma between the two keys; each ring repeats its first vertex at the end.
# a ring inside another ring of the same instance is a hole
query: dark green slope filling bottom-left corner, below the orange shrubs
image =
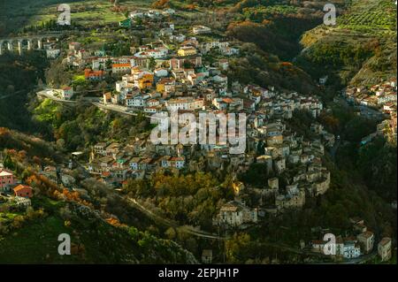
{"type": "Polygon", "coordinates": [[[75,202],[37,197],[33,207],[44,207],[43,215],[25,219],[4,238],[0,235],[0,263],[197,263],[175,242],[111,225],[75,202]],[[58,255],[61,233],[71,236],[72,255],[58,255]]]}

